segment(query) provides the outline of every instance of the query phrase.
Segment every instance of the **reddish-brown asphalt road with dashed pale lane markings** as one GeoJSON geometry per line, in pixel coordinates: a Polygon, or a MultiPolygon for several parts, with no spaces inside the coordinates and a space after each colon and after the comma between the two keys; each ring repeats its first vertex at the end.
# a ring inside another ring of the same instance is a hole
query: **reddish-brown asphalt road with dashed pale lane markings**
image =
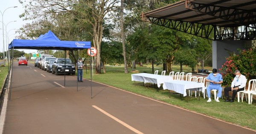
{"type": "Polygon", "coordinates": [[[65,82],[15,62],[3,134],[256,134],[90,80],[77,83],[76,76],[65,82]]]}

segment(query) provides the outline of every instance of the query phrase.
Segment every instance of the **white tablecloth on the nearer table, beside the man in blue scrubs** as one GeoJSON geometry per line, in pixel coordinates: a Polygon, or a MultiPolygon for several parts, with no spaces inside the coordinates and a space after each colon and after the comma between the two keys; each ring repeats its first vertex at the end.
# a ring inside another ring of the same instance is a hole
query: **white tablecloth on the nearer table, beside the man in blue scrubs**
{"type": "Polygon", "coordinates": [[[186,96],[186,90],[194,90],[194,91],[202,91],[202,88],[205,88],[204,83],[197,83],[192,81],[183,81],[183,80],[172,80],[172,81],[165,81],[163,83],[163,89],[173,90],[177,93],[183,94],[186,96]]]}

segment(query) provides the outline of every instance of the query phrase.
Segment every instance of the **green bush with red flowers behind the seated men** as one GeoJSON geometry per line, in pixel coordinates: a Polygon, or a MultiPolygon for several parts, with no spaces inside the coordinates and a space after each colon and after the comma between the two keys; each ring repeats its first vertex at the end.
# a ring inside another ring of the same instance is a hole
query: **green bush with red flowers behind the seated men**
{"type": "Polygon", "coordinates": [[[223,83],[222,86],[230,86],[235,75],[234,72],[238,69],[247,80],[256,79],[256,50],[252,48],[248,50],[238,50],[239,55],[231,55],[227,57],[227,61],[222,65],[220,71],[226,71],[226,74],[222,74],[223,83]]]}

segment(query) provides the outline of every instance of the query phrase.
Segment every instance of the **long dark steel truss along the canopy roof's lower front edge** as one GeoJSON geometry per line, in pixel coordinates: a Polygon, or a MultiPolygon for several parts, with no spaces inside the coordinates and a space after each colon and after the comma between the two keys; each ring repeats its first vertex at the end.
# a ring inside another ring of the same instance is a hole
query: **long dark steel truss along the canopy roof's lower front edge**
{"type": "MultiPolygon", "coordinates": [[[[146,17],[150,23],[164,26],[177,31],[182,31],[195,36],[203,37],[209,40],[255,40],[256,29],[253,24],[250,27],[239,26],[239,27],[224,27],[215,26],[202,23],[191,23],[186,21],[161,19],[156,17],[146,17]]],[[[145,20],[145,15],[143,15],[145,20]]],[[[146,21],[146,20],[145,20],[146,21]]]]}

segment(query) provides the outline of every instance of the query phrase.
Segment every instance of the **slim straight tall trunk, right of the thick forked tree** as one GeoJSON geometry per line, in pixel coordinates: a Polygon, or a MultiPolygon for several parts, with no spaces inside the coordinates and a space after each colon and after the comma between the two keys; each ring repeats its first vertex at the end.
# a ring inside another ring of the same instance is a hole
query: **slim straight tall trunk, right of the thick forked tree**
{"type": "Polygon", "coordinates": [[[126,61],[126,48],[125,48],[125,34],[124,34],[124,0],[121,0],[121,17],[120,17],[120,25],[121,25],[121,38],[122,38],[122,47],[123,47],[123,56],[124,56],[124,62],[125,62],[125,74],[128,73],[127,69],[127,61],[126,61]]]}

